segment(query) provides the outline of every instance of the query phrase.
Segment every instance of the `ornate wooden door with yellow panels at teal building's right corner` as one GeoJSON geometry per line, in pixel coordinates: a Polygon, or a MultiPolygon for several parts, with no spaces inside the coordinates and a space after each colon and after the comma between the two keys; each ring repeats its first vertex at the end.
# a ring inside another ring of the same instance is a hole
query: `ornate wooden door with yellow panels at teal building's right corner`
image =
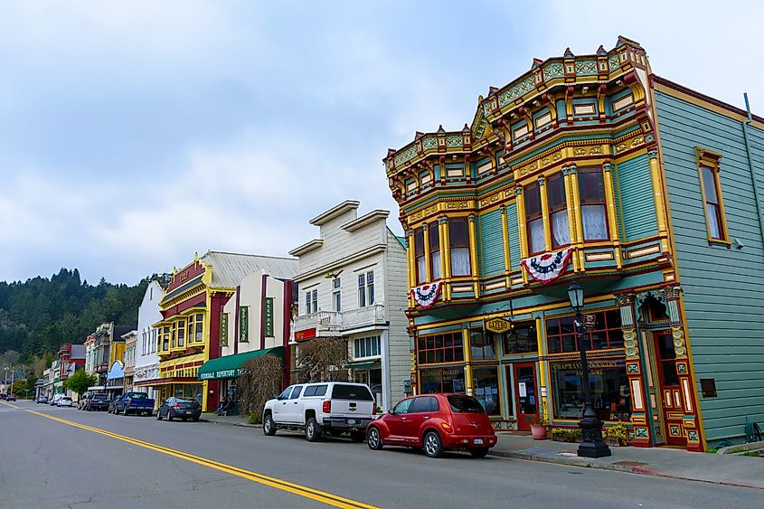
{"type": "Polygon", "coordinates": [[[660,379],[661,407],[665,423],[666,444],[686,446],[684,437],[684,406],[682,386],[676,373],[674,338],[665,332],[653,333],[656,347],[656,364],[660,379]]]}

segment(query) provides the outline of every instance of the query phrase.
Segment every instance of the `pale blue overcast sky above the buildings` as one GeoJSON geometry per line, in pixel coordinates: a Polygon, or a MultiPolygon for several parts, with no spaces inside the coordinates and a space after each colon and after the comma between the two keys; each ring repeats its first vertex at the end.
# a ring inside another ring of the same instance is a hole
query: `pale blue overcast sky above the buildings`
{"type": "Polygon", "coordinates": [[[764,114],[764,4],[678,4],[3,2],[0,280],[286,256],[346,199],[400,232],[388,147],[461,129],[533,57],[618,34],[656,74],[764,114]]]}

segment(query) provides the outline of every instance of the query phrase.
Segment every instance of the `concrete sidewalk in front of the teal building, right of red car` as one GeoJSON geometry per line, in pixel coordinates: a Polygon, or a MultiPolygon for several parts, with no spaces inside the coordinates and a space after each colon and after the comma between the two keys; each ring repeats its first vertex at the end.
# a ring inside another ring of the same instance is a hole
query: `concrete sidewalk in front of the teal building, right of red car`
{"type": "Polygon", "coordinates": [[[502,432],[496,436],[498,443],[489,453],[493,456],[764,489],[764,458],[761,457],[626,447],[610,448],[611,457],[592,459],[576,455],[578,444],[534,440],[531,436],[502,432]]]}

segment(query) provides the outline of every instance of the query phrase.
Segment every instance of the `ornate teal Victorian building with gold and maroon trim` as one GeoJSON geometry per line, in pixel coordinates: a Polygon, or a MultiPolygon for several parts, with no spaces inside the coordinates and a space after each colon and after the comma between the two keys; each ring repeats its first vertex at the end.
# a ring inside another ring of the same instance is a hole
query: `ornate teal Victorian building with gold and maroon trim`
{"type": "Polygon", "coordinates": [[[496,429],[574,428],[576,282],[595,408],[630,444],[703,450],[764,421],[764,119],[621,37],[534,59],[384,165],[414,391],[471,394],[496,429]]]}

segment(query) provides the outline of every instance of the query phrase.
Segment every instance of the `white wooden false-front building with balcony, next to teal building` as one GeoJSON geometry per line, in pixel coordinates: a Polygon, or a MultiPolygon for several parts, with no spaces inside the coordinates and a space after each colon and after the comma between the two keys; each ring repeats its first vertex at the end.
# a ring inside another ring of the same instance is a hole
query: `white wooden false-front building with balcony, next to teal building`
{"type": "Polygon", "coordinates": [[[388,410],[409,381],[406,248],[387,227],[389,211],[358,217],[359,205],[348,200],[316,216],[319,237],[289,252],[299,259],[293,339],[298,363],[300,344],[344,338],[354,381],[388,410]]]}

